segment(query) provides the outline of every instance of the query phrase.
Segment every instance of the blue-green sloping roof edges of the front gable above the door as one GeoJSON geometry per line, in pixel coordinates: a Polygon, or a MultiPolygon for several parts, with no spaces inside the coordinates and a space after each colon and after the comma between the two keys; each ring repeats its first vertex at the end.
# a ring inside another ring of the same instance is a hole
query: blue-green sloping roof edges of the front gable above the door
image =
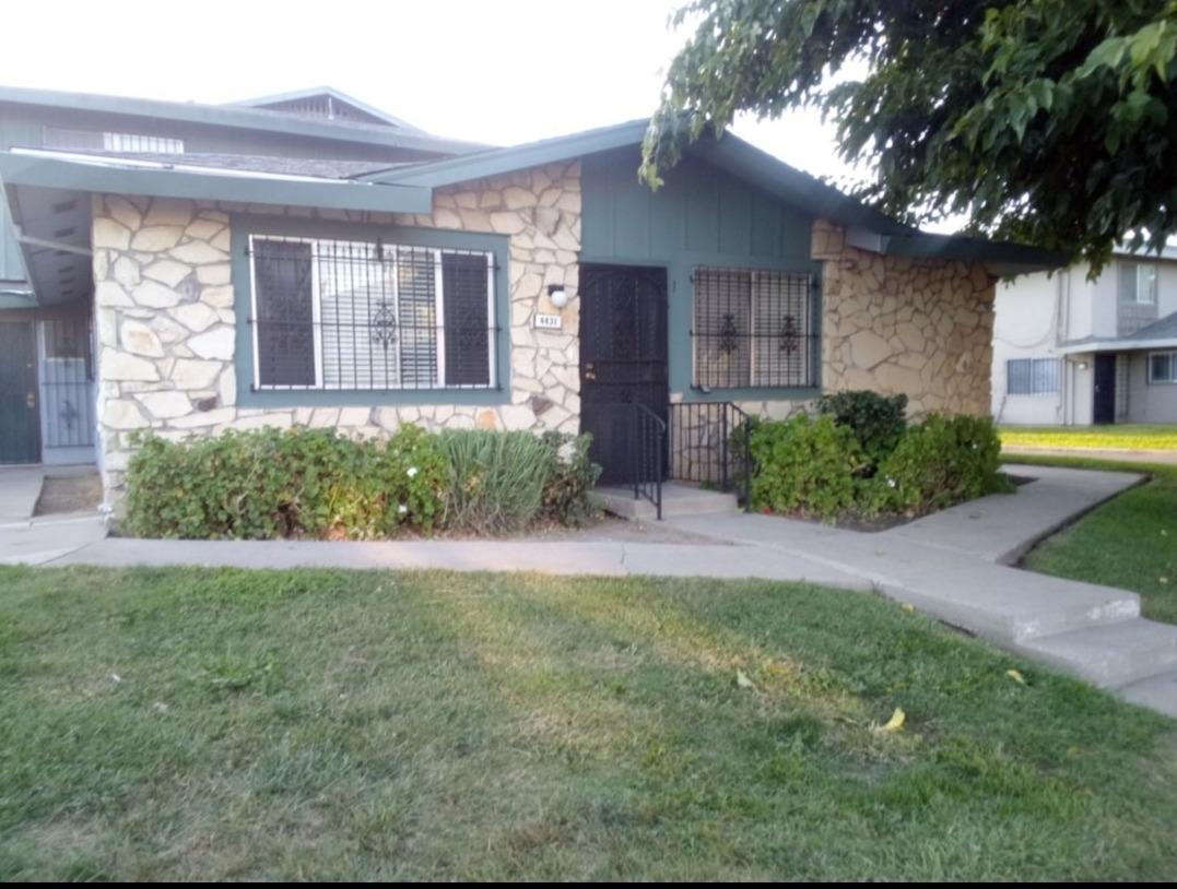
{"type": "MultiPolygon", "coordinates": [[[[641,145],[647,126],[649,121],[645,119],[632,120],[512,148],[494,148],[458,158],[401,165],[364,174],[359,179],[384,185],[438,188],[544,163],[566,161],[597,152],[637,147],[641,145]]],[[[984,262],[996,275],[1059,268],[1070,259],[1062,253],[1024,245],[920,232],[867,207],[862,201],[778,160],[732,133],[718,139],[705,135],[693,142],[687,153],[789,203],[802,207],[814,216],[844,226],[855,236],[851,239],[852,242],[857,241],[857,246],[876,253],[984,262]]]]}

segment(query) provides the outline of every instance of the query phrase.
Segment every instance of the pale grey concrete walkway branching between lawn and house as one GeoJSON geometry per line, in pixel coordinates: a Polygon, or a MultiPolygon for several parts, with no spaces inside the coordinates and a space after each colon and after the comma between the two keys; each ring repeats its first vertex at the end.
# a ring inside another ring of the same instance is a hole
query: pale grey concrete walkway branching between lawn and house
{"type": "MultiPolygon", "coordinates": [[[[876,534],[776,516],[667,520],[706,542],[390,543],[101,540],[95,522],[0,528],[0,562],[330,567],[758,577],[875,590],[997,646],[1177,716],[1177,627],[1139,617],[1126,590],[1019,570],[1035,542],[1141,481],[1126,473],[1011,466],[1036,481],[876,534]],[[21,535],[26,535],[20,543],[21,535]],[[15,541],[15,542],[14,542],[15,541]],[[51,546],[52,543],[52,546],[51,546]],[[24,559],[13,559],[13,547],[24,559]],[[38,547],[42,547],[38,549],[38,547]]],[[[0,494],[5,494],[0,476],[0,494]]],[[[2,499],[2,497],[0,497],[2,499]]]]}

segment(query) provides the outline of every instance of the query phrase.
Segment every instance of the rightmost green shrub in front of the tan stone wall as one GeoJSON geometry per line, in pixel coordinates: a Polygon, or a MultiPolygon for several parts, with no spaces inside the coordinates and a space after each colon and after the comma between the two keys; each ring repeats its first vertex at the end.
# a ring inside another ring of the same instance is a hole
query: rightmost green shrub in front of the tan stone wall
{"type": "Polygon", "coordinates": [[[915,516],[1009,490],[999,472],[1000,452],[991,419],[931,414],[907,429],[879,464],[865,506],[876,514],[915,516]]]}

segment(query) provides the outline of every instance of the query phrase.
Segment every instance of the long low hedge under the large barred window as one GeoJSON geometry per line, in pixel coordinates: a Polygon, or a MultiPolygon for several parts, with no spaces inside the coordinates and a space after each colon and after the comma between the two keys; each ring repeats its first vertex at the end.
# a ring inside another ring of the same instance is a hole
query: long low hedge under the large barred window
{"type": "Polygon", "coordinates": [[[552,433],[404,426],[386,440],[334,429],[147,435],[127,470],[122,529],[187,540],[380,540],[505,533],[593,513],[588,441],[552,433]]]}

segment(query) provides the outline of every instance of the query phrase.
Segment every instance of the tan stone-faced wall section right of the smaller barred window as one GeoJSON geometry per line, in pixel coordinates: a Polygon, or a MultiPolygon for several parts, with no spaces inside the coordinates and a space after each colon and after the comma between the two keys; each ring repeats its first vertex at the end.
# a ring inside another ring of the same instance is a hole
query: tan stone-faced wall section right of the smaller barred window
{"type": "Polygon", "coordinates": [[[988,414],[993,285],[980,263],[883,256],[813,227],[823,260],[823,389],[904,393],[909,413],[988,414]]]}

